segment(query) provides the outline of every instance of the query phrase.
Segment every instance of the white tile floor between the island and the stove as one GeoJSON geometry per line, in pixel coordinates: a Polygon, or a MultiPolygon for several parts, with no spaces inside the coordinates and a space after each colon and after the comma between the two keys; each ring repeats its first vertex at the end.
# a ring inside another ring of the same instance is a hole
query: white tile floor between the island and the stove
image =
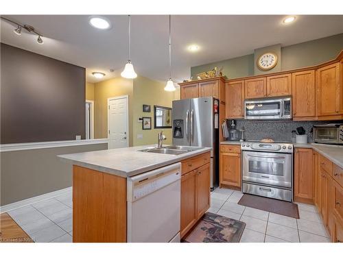
{"type": "Polygon", "coordinates": [[[298,204],[300,219],[237,204],[243,194],[226,188],[211,193],[209,212],[246,223],[241,243],[329,243],[329,234],[314,206],[298,204]]]}

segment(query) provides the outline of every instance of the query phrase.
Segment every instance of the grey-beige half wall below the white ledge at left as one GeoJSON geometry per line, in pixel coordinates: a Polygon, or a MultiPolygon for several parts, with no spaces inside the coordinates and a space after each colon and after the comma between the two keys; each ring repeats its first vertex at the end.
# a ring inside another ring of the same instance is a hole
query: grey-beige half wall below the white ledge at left
{"type": "Polygon", "coordinates": [[[57,156],[104,149],[107,143],[2,152],[0,205],[71,186],[72,165],[57,156]]]}

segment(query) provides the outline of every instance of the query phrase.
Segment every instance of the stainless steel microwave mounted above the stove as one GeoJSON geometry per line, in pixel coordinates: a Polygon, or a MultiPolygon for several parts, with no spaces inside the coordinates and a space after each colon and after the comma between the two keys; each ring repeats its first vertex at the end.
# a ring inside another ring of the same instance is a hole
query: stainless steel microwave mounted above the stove
{"type": "Polygon", "coordinates": [[[291,97],[246,99],[244,119],[292,119],[291,97]]]}

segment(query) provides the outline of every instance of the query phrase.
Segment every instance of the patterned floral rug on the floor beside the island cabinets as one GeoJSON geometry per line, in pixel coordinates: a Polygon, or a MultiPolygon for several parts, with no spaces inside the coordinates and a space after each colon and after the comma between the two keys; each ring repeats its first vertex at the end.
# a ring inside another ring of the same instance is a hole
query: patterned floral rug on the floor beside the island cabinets
{"type": "Polygon", "coordinates": [[[238,243],[246,223],[206,212],[182,239],[185,243],[238,243]]]}

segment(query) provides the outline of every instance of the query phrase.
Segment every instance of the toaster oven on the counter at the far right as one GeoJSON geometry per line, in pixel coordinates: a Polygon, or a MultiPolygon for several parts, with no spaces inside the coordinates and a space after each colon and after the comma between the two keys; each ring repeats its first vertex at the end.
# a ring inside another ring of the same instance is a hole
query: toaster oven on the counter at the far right
{"type": "Polygon", "coordinates": [[[343,144],[343,123],[314,125],[314,142],[343,144]]]}

